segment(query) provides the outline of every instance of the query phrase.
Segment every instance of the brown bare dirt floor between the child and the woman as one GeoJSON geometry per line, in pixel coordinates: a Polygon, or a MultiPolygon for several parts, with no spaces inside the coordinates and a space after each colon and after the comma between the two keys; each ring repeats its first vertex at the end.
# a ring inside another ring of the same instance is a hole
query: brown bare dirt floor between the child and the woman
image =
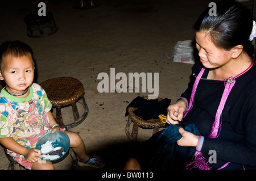
{"type": "MultiPolygon", "coordinates": [[[[73,8],[75,0],[5,0],[0,2],[0,40],[21,40],[31,46],[37,65],[36,82],[55,77],[81,81],[89,114],[69,130],[80,134],[88,153],[106,158],[106,170],[118,170],[126,156],[137,151],[126,137],[126,107],[137,96],[151,93],[100,93],[98,74],[110,76],[110,68],[115,68],[115,74],[127,76],[136,72],[159,73],[159,97],[175,102],[187,87],[192,64],[173,62],[172,49],[177,41],[193,39],[193,23],[209,2],[98,0],[97,7],[79,10],[73,8]],[[46,3],[46,10],[53,13],[59,29],[51,36],[31,38],[23,19],[39,10],[39,2],[46,3]]],[[[63,109],[65,124],[73,119],[71,111],[63,109]]],[[[152,129],[139,129],[138,142],[151,134],[152,129]]],[[[56,163],[56,169],[68,169],[68,157],[66,162],[56,163]]],[[[5,170],[8,165],[0,148],[0,169],[5,170]]]]}

